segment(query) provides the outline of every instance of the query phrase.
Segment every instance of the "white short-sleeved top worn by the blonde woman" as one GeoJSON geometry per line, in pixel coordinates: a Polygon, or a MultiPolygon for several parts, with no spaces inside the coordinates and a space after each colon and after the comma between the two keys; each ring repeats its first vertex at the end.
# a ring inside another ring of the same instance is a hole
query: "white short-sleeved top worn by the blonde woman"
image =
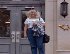
{"type": "Polygon", "coordinates": [[[40,19],[39,18],[27,18],[24,24],[28,24],[28,28],[32,28],[33,23],[37,23],[37,22],[45,23],[42,18],[40,19]]]}

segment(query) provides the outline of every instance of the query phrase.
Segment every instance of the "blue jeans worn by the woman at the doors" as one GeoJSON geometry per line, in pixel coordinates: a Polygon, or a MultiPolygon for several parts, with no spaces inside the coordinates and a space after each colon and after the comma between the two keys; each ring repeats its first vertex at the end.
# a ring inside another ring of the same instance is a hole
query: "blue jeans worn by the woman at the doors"
{"type": "Polygon", "coordinates": [[[39,54],[44,54],[44,46],[43,46],[43,36],[33,36],[32,29],[28,29],[28,40],[31,45],[32,54],[37,54],[37,48],[39,50],[39,54]]]}

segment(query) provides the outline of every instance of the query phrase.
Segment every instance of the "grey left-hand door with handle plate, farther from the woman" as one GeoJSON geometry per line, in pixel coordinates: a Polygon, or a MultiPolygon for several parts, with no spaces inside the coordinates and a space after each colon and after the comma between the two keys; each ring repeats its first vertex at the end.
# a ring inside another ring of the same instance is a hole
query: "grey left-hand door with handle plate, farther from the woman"
{"type": "Polygon", "coordinates": [[[15,54],[14,11],[0,8],[0,54],[15,54]]]}

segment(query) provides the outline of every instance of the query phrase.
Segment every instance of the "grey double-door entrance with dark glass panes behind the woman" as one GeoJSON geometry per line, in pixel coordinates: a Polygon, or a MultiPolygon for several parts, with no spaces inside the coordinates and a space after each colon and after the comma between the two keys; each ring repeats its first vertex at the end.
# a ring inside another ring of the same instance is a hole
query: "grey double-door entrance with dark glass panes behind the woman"
{"type": "MultiPolygon", "coordinates": [[[[44,14],[40,10],[44,8],[35,6],[35,9],[44,14]]],[[[27,11],[19,6],[0,9],[0,54],[31,54],[30,43],[23,34],[27,11]]]]}

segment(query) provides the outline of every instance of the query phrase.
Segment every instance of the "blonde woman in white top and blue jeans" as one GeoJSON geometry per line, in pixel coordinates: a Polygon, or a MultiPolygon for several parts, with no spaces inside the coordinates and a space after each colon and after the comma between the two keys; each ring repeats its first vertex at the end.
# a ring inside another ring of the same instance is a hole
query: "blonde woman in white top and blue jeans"
{"type": "Polygon", "coordinates": [[[40,14],[36,10],[30,10],[27,13],[27,19],[25,20],[24,24],[24,36],[28,36],[28,40],[31,45],[32,54],[37,54],[37,48],[39,50],[39,54],[44,54],[44,47],[43,47],[43,35],[34,35],[33,26],[39,25],[38,22],[42,26],[44,26],[44,20],[40,17],[40,14]],[[27,32],[26,32],[27,31],[27,32]]]}

